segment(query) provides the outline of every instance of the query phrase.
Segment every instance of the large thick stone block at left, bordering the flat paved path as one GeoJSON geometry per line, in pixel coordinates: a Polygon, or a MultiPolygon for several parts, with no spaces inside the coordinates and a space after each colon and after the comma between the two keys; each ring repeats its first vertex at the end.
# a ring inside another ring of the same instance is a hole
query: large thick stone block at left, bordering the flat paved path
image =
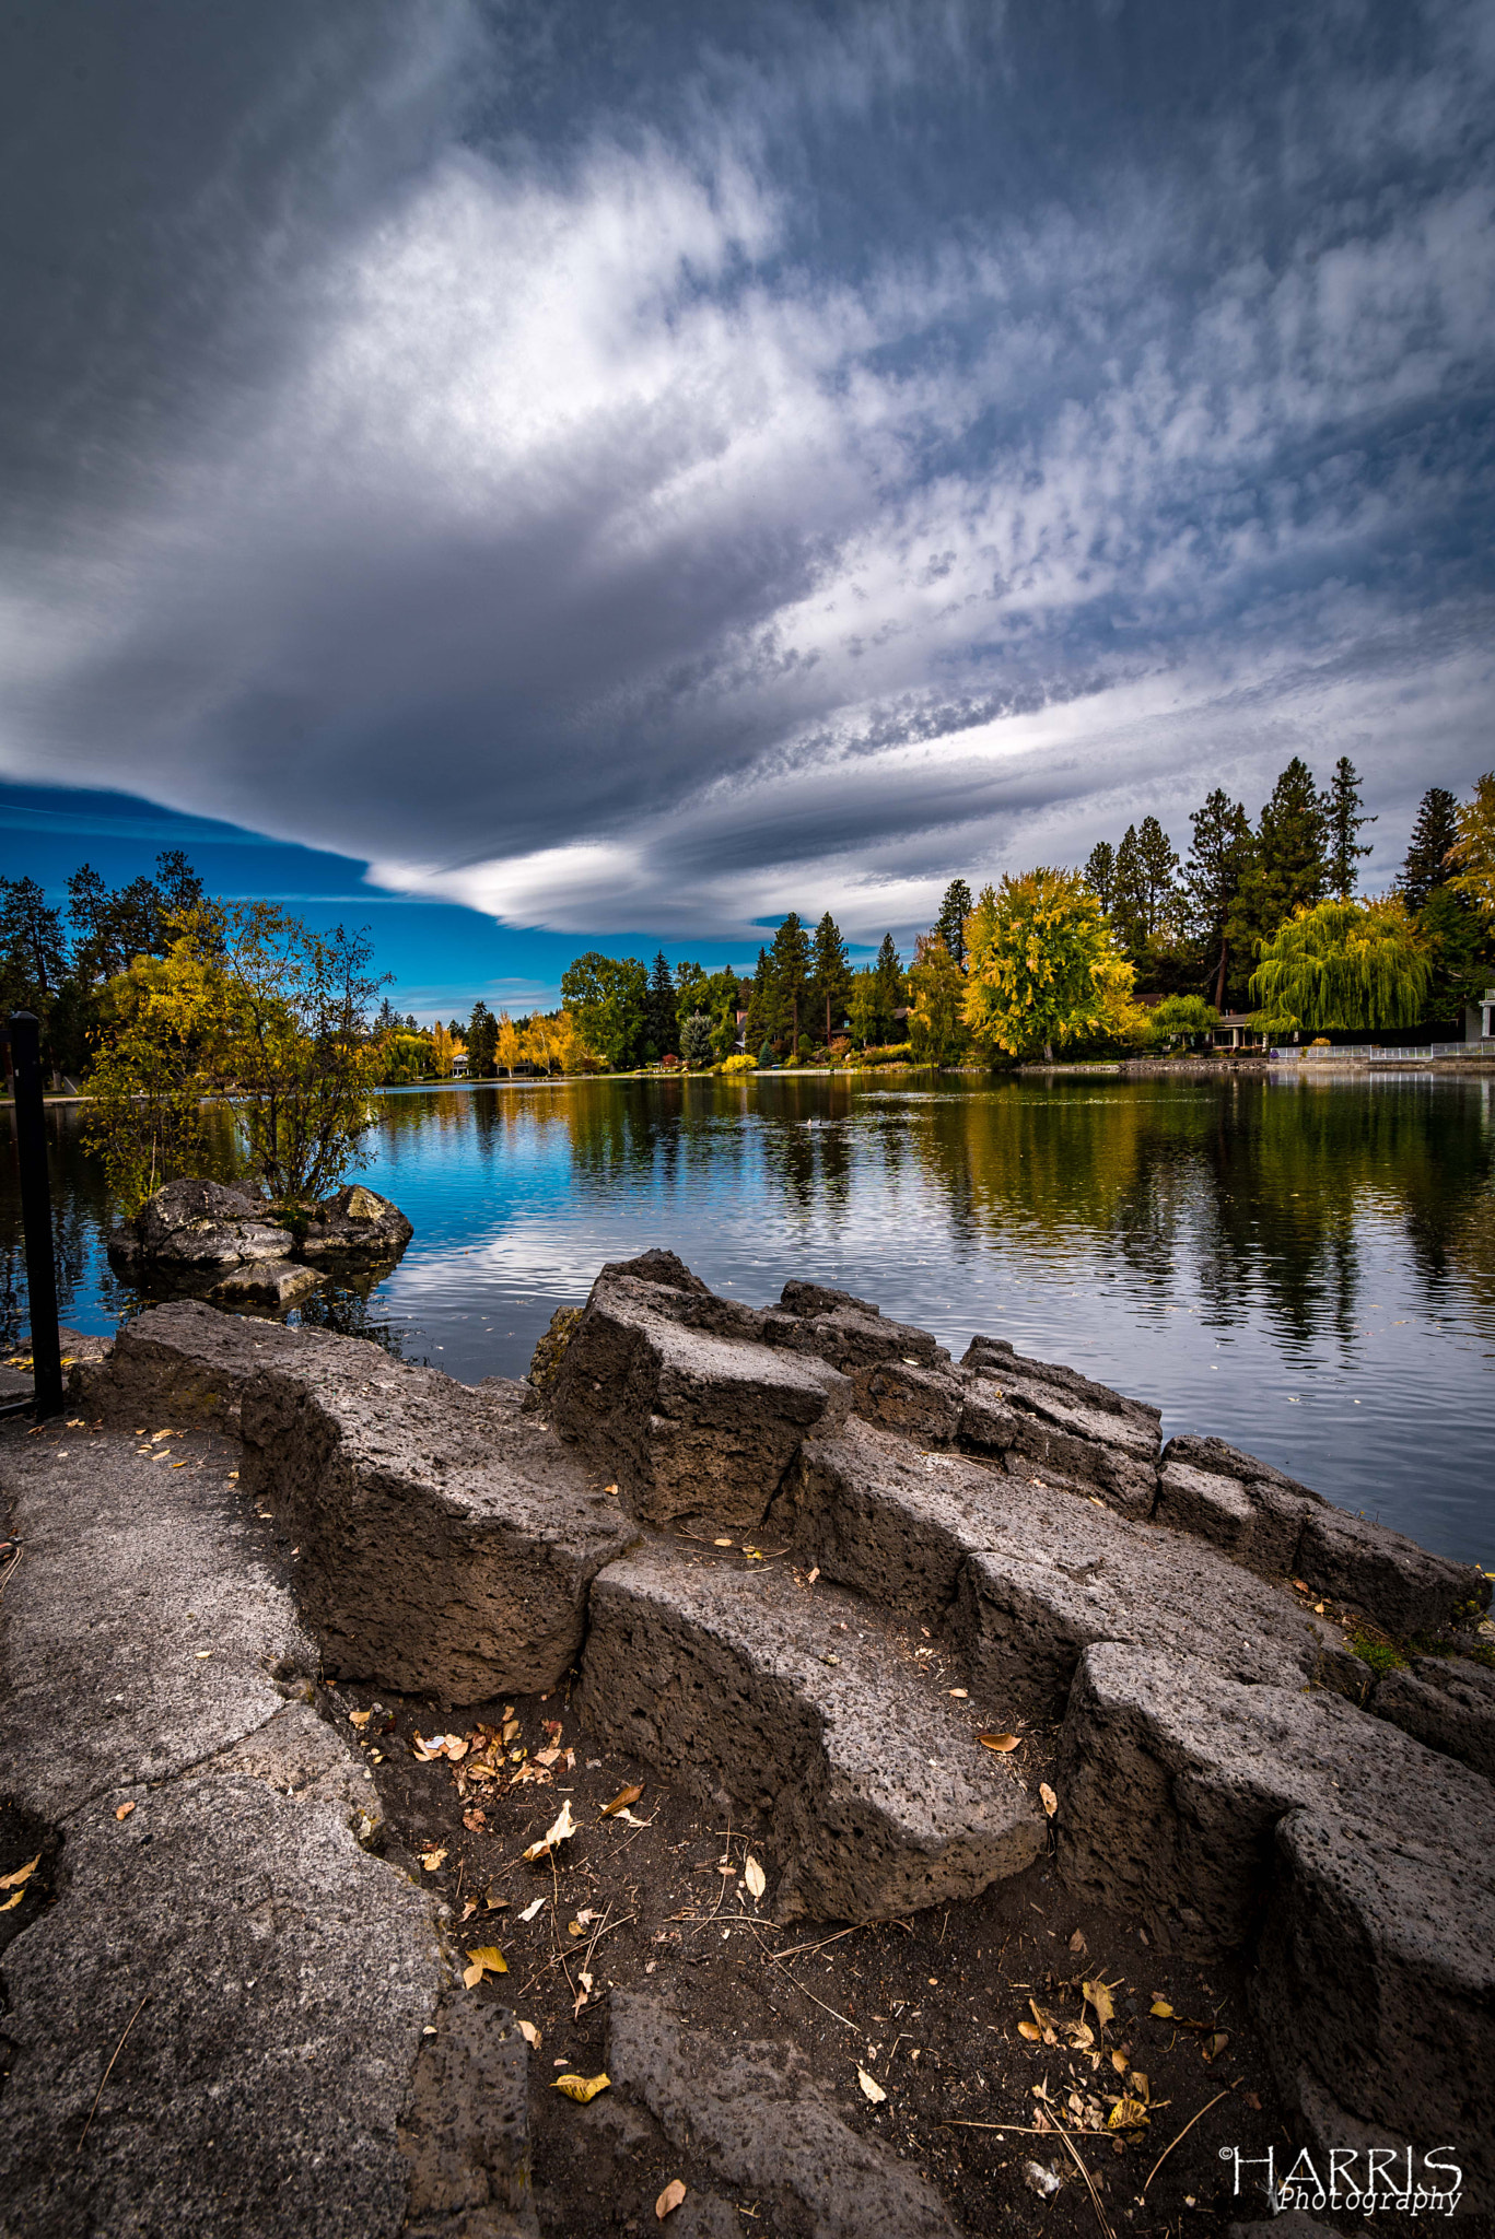
{"type": "Polygon", "coordinates": [[[247,1388],[244,1484],[294,1543],[327,1673],[462,1704],[572,1668],[587,1587],[634,1525],[529,1399],[352,1337],[247,1388]]]}

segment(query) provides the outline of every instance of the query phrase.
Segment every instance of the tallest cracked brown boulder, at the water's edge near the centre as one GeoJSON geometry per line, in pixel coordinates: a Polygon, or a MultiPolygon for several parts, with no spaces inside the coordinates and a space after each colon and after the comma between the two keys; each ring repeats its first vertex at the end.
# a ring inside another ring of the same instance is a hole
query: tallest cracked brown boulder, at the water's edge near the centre
{"type": "Polygon", "coordinates": [[[825,1361],[760,1343],[760,1325],[672,1254],[603,1267],[545,1395],[549,1420],[634,1516],[755,1527],[800,1440],[845,1422],[852,1399],[825,1361]]]}

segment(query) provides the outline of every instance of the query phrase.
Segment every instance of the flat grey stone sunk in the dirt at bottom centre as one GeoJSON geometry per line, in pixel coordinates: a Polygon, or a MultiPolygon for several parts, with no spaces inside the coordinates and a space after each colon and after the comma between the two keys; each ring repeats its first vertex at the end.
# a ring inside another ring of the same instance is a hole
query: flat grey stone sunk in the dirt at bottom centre
{"type": "Polygon", "coordinates": [[[657,1999],[614,1990],[607,2073],[677,2149],[771,2201],[771,2230],[809,2239],[955,2239],[935,2188],[881,2138],[845,2123],[787,2042],[719,2042],[657,1999]]]}

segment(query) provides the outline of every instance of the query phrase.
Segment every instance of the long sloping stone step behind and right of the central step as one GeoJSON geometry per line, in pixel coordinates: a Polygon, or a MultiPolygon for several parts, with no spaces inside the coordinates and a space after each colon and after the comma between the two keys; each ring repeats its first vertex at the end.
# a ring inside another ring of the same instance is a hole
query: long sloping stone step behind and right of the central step
{"type": "Polygon", "coordinates": [[[946,1626],[1013,1713],[1062,1711],[1096,1641],[1172,1648],[1257,1684],[1369,1684],[1336,1626],[1215,1547],[863,1422],[805,1442],[771,1529],[802,1567],[946,1626]]]}

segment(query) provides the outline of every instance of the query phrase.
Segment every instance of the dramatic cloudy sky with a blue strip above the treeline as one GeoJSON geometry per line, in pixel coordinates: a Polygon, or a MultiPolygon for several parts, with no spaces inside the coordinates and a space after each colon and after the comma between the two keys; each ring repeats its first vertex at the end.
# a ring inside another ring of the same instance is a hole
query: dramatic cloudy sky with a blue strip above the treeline
{"type": "Polygon", "coordinates": [[[0,855],[401,1008],[1495,761],[1477,0],[20,0],[0,855]],[[134,851],[134,853],[132,853],[134,851]]]}

